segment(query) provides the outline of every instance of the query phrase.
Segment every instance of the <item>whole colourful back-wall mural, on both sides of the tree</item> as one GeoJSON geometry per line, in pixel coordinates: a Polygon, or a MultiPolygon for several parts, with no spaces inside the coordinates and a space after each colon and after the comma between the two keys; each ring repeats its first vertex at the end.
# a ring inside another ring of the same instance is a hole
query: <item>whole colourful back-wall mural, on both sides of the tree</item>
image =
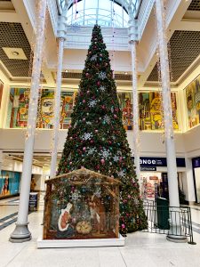
{"type": "MultiPolygon", "coordinates": [[[[123,113],[125,130],[132,130],[132,93],[117,93],[123,113]]],[[[176,93],[172,93],[173,127],[179,129],[177,116],[176,93]]],[[[71,120],[71,113],[75,103],[75,92],[61,93],[60,100],[60,129],[67,129],[71,120]]],[[[28,121],[29,90],[25,88],[11,88],[8,103],[6,127],[23,128],[28,121]]],[[[161,130],[163,125],[163,111],[161,94],[157,92],[139,93],[140,130],[161,130]]],[[[37,127],[52,129],[54,112],[54,91],[42,89],[40,92],[37,112],[37,127]]]]}

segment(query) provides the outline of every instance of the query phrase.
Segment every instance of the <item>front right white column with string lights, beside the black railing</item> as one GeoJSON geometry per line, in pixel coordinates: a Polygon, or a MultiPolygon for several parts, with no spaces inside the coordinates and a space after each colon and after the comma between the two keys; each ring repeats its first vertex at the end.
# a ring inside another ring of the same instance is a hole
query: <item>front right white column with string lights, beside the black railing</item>
{"type": "MultiPolygon", "coordinates": [[[[172,126],[172,101],[171,101],[171,88],[170,88],[170,69],[167,50],[166,26],[164,20],[164,1],[156,0],[156,23],[158,34],[158,45],[160,53],[160,67],[163,91],[163,105],[164,105],[164,134],[165,134],[165,149],[167,158],[167,173],[168,173],[168,186],[169,186],[169,199],[170,206],[179,207],[179,190],[176,166],[176,152],[174,143],[174,134],[172,126]]],[[[179,208],[171,208],[172,222],[171,231],[167,239],[176,241],[177,239],[185,239],[179,235],[180,231],[177,230],[175,225],[179,224],[179,215],[175,214],[179,208]],[[173,213],[174,211],[174,213],[173,213]],[[173,231],[175,229],[175,231],[173,231]],[[177,235],[176,235],[177,233],[177,235]]]]}

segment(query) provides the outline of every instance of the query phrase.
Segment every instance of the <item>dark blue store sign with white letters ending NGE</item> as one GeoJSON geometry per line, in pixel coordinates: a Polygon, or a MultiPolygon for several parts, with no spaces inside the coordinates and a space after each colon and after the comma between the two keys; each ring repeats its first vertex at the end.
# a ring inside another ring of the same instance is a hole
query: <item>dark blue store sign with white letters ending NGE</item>
{"type": "MultiPolygon", "coordinates": [[[[134,157],[132,157],[132,159],[134,159],[134,157]]],[[[185,158],[176,158],[176,164],[178,167],[185,167],[186,166],[186,162],[185,162],[185,158]]],[[[166,158],[145,158],[145,157],[141,157],[140,158],[140,167],[164,167],[167,166],[167,160],[166,158]]]]}

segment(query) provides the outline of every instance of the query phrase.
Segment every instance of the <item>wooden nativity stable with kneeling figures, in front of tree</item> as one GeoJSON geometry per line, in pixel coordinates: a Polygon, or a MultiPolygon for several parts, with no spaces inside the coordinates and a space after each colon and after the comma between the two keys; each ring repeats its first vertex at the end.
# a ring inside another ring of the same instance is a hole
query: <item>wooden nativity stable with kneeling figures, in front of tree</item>
{"type": "Polygon", "coordinates": [[[85,168],[46,181],[44,239],[119,238],[119,184],[85,168]]]}

